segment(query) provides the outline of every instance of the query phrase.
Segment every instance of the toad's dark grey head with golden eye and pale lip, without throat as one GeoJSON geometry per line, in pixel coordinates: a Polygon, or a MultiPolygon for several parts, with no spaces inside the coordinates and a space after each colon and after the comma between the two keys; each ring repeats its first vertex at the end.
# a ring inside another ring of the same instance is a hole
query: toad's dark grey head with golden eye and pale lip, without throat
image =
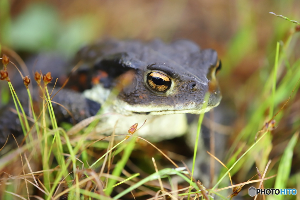
{"type": "MultiPolygon", "coordinates": [[[[161,40],[109,41],[88,46],[76,56],[82,68],[91,67],[91,76],[111,89],[121,74],[132,70],[132,77],[113,102],[123,115],[149,115],[207,112],[221,99],[215,72],[219,67],[217,53],[200,48],[188,40],[165,44],[161,40]],[[202,109],[210,88],[208,106],[202,109]]],[[[93,97],[95,101],[103,97],[93,97]]]]}

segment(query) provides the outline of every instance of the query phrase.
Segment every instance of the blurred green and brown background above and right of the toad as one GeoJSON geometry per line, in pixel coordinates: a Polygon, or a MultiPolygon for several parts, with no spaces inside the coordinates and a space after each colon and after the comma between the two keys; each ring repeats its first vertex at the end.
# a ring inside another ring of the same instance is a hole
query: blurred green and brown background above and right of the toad
{"type": "MultiPolygon", "coordinates": [[[[265,119],[269,119],[268,109],[260,105],[271,95],[268,78],[274,67],[277,41],[280,42],[277,84],[284,81],[280,96],[274,100],[275,113],[288,99],[299,78],[297,25],[269,12],[300,21],[300,1],[0,0],[0,43],[23,58],[55,51],[70,59],[80,47],[108,37],[141,40],[159,37],[166,42],[187,38],[201,48],[215,49],[223,64],[218,75],[222,101],[238,116],[231,127],[228,146],[233,145],[233,152],[240,147],[244,151],[243,145],[253,143],[255,133],[265,119]]],[[[281,155],[300,126],[298,87],[292,97],[279,116],[278,128],[232,172],[237,173],[236,183],[255,175],[253,163],[263,170],[269,158],[273,159],[270,169],[274,169],[270,175],[277,173],[281,155]],[[254,174],[248,175],[251,170],[254,174]]],[[[297,142],[288,187],[297,187],[298,193],[299,165],[300,145],[297,142]]],[[[272,184],[274,181],[267,186],[271,188],[272,184]]]]}

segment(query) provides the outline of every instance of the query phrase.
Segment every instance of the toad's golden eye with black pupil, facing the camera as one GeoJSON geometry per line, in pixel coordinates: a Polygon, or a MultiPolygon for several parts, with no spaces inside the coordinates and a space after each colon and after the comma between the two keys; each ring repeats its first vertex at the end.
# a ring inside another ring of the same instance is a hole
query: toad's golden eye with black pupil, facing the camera
{"type": "Polygon", "coordinates": [[[147,82],[150,88],[158,92],[166,91],[171,86],[170,78],[159,72],[151,72],[147,74],[147,82]]]}

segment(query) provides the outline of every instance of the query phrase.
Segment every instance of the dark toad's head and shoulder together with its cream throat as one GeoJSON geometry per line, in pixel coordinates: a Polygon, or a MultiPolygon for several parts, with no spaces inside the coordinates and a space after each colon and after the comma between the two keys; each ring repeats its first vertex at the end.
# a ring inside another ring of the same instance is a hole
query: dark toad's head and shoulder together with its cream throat
{"type": "MultiPolygon", "coordinates": [[[[220,69],[217,53],[200,49],[188,40],[171,44],[161,40],[149,43],[109,40],[83,48],[74,64],[79,64],[79,69],[72,74],[66,88],[75,91],[63,89],[53,100],[69,109],[77,122],[95,115],[100,106],[108,105],[104,109],[114,114],[106,115],[99,132],[111,132],[118,121],[116,134],[124,134],[131,125],[147,119],[140,136],[156,141],[170,139],[186,132],[185,113],[207,112],[220,103],[221,93],[215,78],[220,69]],[[115,91],[114,95],[110,95],[111,91],[115,91]],[[207,92],[210,94],[207,107],[202,108],[207,92]]],[[[9,113],[0,118],[1,131],[21,132],[18,123],[7,124],[12,118],[17,121],[17,116],[9,113]]],[[[55,115],[71,122],[69,113],[60,106],[55,115]]],[[[1,141],[5,141],[5,134],[2,136],[1,141]]]]}

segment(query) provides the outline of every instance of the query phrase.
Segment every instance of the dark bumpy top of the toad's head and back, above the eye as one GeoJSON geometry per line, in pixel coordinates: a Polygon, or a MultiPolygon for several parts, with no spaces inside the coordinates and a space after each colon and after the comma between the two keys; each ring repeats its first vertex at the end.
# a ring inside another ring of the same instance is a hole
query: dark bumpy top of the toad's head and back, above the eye
{"type": "MultiPolygon", "coordinates": [[[[145,43],[137,40],[118,41],[109,40],[82,48],[70,66],[70,70],[79,62],[79,70],[74,73],[72,84],[77,85],[82,91],[91,88],[92,74],[97,70],[104,70],[108,73],[109,79],[102,80],[104,85],[111,86],[111,80],[129,69],[145,70],[147,65],[153,63],[169,63],[176,65],[179,73],[191,74],[207,82],[206,74],[208,67],[199,69],[203,65],[215,65],[217,53],[212,49],[200,50],[199,46],[189,40],[176,40],[171,44],[165,44],[156,39],[145,43]],[[201,53],[200,53],[201,51],[201,53]],[[116,66],[122,67],[116,67],[116,66]],[[180,70],[181,69],[181,70],[180,70]],[[87,74],[90,82],[87,84],[78,83],[80,74],[87,74]]],[[[71,84],[69,84],[71,85],[71,84]]]]}

